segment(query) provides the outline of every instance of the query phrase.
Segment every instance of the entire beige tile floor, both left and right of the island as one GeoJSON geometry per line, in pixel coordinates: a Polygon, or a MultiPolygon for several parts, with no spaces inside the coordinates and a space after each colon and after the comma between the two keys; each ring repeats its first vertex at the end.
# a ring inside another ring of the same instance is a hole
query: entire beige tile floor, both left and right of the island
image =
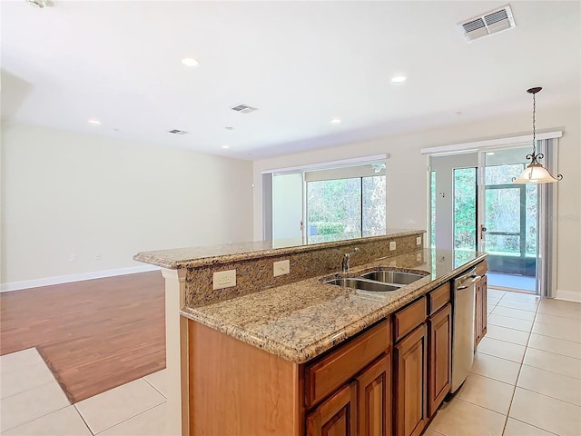
{"type": "MultiPolygon", "coordinates": [[[[426,436],[581,435],[581,303],[488,290],[488,332],[426,436]]],[[[158,436],[165,370],[69,404],[35,349],[0,357],[2,436],[158,436]]]]}

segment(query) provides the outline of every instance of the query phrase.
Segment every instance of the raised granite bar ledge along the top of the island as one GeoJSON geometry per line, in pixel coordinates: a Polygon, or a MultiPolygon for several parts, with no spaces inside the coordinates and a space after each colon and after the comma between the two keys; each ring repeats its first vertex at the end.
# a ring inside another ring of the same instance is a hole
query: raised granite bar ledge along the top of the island
{"type": "MultiPolygon", "coordinates": [[[[365,241],[384,240],[421,234],[424,231],[388,229],[385,234],[364,234],[365,241]]],[[[284,255],[291,253],[305,253],[310,250],[318,250],[324,247],[340,247],[353,243],[361,238],[361,233],[351,233],[341,235],[338,241],[328,241],[325,243],[302,244],[300,240],[285,239],[276,241],[255,241],[250,243],[230,243],[214,245],[212,247],[186,247],[170,250],[157,250],[151,252],[137,253],[133,260],[152,265],[161,266],[171,270],[181,268],[194,268],[216,263],[231,263],[258,259],[269,255],[284,255]]]]}

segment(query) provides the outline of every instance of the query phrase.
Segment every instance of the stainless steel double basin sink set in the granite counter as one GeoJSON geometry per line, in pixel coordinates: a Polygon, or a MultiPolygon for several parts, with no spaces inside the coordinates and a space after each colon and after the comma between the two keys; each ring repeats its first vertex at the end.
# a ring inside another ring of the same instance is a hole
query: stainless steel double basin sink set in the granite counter
{"type": "Polygon", "coordinates": [[[389,292],[398,291],[399,288],[409,283],[416,282],[424,277],[424,274],[414,272],[378,269],[371,272],[365,272],[357,277],[334,277],[332,279],[323,280],[323,283],[359,289],[360,291],[389,292]]]}

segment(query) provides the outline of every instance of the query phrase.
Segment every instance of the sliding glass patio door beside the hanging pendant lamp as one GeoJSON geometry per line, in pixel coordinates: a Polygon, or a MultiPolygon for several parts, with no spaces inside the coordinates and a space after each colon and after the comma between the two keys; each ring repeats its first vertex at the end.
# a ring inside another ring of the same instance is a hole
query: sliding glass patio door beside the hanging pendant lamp
{"type": "Polygon", "coordinates": [[[539,189],[514,184],[528,147],[430,156],[432,247],[488,253],[488,285],[537,289],[539,189]]]}

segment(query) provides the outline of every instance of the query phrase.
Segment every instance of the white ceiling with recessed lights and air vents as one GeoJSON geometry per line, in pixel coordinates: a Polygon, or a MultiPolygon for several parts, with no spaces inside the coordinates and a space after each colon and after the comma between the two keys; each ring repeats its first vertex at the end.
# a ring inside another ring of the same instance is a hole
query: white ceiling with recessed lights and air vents
{"type": "Polygon", "coordinates": [[[2,1],[2,115],[254,160],[529,110],[532,86],[578,103],[580,2],[513,1],[516,28],[468,44],[457,24],[504,5],[2,1]]]}

